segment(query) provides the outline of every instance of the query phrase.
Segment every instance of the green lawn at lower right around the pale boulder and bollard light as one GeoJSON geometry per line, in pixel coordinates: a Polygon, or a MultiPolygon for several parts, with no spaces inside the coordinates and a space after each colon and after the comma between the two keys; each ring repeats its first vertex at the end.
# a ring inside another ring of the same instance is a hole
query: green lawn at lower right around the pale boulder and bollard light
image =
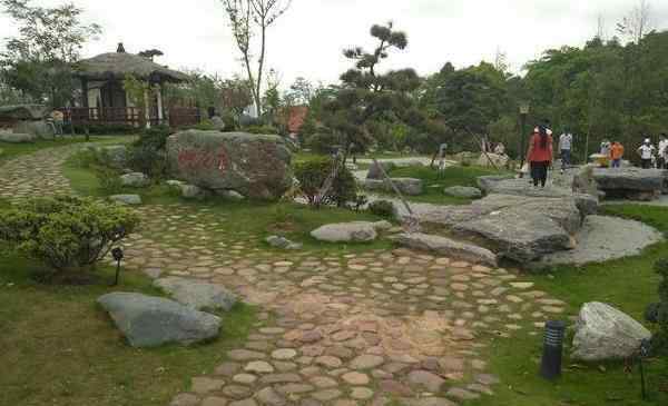
{"type": "MultiPolygon", "coordinates": [[[[607,207],[605,211],[668,232],[668,210],[665,208],[629,205],[607,207]]],[[[659,277],[654,273],[654,264],[667,255],[668,242],[660,242],[637,257],[579,268],[562,266],[548,275],[523,279],[534,281],[538,289],[567,301],[570,315],[577,315],[584,303],[603,301],[644,320],[646,306],[658,300],[659,277]]],[[[489,337],[489,340],[491,369],[503,378],[504,385],[497,388],[497,396],[466,405],[668,405],[666,357],[654,358],[647,364],[650,399],[642,402],[637,365],[629,373],[625,372],[622,363],[583,365],[576,364],[567,355],[563,377],[548,383],[538,377],[542,337],[518,335],[512,339],[489,337]]],[[[567,347],[567,354],[569,349],[567,347]]]]}

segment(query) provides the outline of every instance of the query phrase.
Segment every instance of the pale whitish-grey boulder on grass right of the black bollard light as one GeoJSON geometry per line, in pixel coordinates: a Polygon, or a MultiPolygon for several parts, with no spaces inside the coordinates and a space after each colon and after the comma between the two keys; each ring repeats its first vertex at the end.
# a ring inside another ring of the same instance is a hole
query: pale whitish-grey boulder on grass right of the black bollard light
{"type": "Polygon", "coordinates": [[[602,304],[582,306],[573,337],[572,358],[584,362],[626,359],[651,333],[618,309],[602,304]]]}

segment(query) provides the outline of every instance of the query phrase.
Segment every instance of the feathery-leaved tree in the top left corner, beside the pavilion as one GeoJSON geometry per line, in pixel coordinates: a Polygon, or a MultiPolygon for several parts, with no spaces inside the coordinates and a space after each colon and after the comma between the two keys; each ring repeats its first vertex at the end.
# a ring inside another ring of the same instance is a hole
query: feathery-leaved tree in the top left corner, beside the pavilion
{"type": "Polygon", "coordinates": [[[81,22],[82,9],[71,3],[53,8],[30,0],[2,0],[19,34],[7,40],[0,53],[2,79],[33,101],[56,107],[72,98],[70,68],[84,44],[101,28],[81,22]]]}

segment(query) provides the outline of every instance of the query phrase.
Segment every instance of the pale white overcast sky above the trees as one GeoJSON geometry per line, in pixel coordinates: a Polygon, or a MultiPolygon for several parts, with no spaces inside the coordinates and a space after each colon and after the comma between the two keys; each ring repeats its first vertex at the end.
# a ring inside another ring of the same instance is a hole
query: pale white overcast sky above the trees
{"type": "MultiPolygon", "coordinates": [[[[59,0],[33,0],[53,6],[59,0]]],[[[102,26],[84,57],[158,48],[157,61],[171,68],[202,69],[224,77],[243,72],[220,0],[73,0],[86,19],[102,26]]],[[[649,0],[651,23],[668,28],[668,1],[649,0]]],[[[409,36],[409,48],[390,68],[413,67],[426,75],[446,61],[456,67],[493,61],[498,49],[519,71],[549,48],[582,46],[597,31],[598,16],[608,36],[638,0],[294,0],[268,36],[268,67],[288,86],[296,77],[335,82],[350,67],[342,50],[369,46],[373,23],[394,21],[409,36]]],[[[14,32],[0,14],[0,43],[14,32]]]]}

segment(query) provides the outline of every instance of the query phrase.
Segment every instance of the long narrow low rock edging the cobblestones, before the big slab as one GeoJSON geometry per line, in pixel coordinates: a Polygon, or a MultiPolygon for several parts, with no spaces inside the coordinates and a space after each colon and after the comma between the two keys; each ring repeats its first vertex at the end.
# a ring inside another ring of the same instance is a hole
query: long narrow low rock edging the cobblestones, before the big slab
{"type": "Polygon", "coordinates": [[[407,248],[425,250],[473,264],[484,264],[493,267],[498,264],[497,255],[489,249],[455,241],[446,237],[414,232],[402,234],[395,238],[395,241],[407,248]]]}

